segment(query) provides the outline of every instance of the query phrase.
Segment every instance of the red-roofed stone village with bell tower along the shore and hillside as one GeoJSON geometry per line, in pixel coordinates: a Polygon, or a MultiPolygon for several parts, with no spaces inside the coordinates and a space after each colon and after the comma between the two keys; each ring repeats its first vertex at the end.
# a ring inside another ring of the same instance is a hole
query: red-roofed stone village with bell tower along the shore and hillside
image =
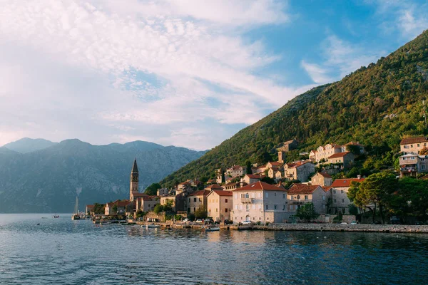
{"type": "MultiPolygon", "coordinates": [[[[421,177],[424,180],[422,175],[428,171],[427,144],[427,137],[404,138],[400,142],[399,175],[381,172],[387,175],[385,181],[398,177],[421,177]]],[[[188,179],[170,189],[159,188],[156,195],[138,191],[139,172],[134,160],[129,199],[108,202],[103,205],[103,212],[98,209],[98,214],[126,214],[133,219],[179,220],[188,217],[190,220],[208,218],[213,222],[233,224],[269,224],[303,220],[352,222],[358,219],[370,222],[371,212],[372,222],[387,221],[384,217],[387,203],[366,200],[366,204],[362,204],[364,200],[355,192],[367,177],[359,174],[344,177],[344,173],[349,175],[358,160],[367,155],[364,145],[359,142],[329,143],[302,153],[307,155],[305,160],[287,162],[287,152],[295,150],[297,145],[296,140],[283,142],[277,148],[277,161],[246,167],[231,165],[225,170],[215,170],[213,179],[188,179]]],[[[86,212],[94,214],[95,208],[88,205],[86,212]]]]}

